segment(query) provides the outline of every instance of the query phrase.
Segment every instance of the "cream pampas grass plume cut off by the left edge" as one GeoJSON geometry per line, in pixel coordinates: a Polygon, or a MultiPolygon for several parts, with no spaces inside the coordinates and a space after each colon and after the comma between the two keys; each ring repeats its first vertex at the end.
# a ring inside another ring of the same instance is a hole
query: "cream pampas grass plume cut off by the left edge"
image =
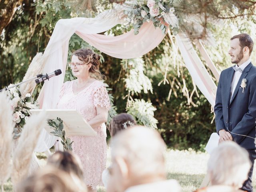
{"type": "Polygon", "coordinates": [[[14,123],[12,121],[13,111],[6,92],[0,92],[0,183],[3,184],[10,176],[12,155],[12,132],[14,123]]]}

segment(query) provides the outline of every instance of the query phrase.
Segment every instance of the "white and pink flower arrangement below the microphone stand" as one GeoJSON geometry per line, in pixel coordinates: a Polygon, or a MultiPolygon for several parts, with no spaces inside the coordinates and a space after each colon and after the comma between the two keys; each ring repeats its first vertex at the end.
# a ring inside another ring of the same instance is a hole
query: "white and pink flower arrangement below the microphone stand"
{"type": "MultiPolygon", "coordinates": [[[[12,86],[12,84],[8,87],[10,86],[12,86]]],[[[38,104],[33,101],[30,93],[27,93],[25,97],[22,97],[19,86],[8,89],[7,94],[10,98],[11,108],[14,112],[12,119],[15,123],[13,138],[16,139],[20,136],[23,126],[31,116],[29,110],[38,108],[38,104]]]]}

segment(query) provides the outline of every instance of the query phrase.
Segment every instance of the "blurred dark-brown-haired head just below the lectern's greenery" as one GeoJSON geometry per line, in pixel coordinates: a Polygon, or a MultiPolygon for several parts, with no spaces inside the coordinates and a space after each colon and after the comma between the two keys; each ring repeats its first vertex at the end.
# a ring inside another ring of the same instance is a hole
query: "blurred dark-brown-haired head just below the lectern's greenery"
{"type": "Polygon", "coordinates": [[[83,170],[80,159],[76,154],[66,151],[57,151],[47,160],[47,165],[59,168],[69,174],[75,174],[83,180],[83,170]]]}

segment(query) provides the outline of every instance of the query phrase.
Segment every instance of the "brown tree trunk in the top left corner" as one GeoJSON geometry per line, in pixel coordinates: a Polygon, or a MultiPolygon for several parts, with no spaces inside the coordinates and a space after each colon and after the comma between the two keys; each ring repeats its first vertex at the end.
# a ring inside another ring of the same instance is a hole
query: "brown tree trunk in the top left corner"
{"type": "Polygon", "coordinates": [[[23,0],[0,0],[0,34],[10,23],[18,6],[23,0]]]}

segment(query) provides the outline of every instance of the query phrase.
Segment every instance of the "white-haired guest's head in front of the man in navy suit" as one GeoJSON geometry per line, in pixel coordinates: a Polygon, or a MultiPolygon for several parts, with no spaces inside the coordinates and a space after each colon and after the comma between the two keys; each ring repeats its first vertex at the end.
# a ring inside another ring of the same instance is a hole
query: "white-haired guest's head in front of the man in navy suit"
{"type": "Polygon", "coordinates": [[[226,141],[212,152],[208,161],[208,174],[212,185],[238,189],[247,179],[250,167],[248,152],[235,142],[226,141]]]}

